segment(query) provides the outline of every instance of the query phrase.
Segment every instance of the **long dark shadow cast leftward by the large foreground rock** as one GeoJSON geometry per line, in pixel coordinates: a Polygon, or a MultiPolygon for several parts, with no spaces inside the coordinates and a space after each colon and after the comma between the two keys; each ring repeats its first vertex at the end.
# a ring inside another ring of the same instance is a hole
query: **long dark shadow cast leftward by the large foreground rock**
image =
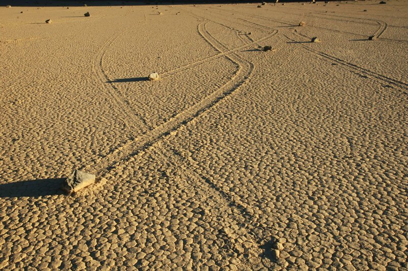
{"type": "Polygon", "coordinates": [[[65,179],[32,179],[0,184],[0,198],[62,195],[64,192],[61,190],[61,185],[65,179]]]}

